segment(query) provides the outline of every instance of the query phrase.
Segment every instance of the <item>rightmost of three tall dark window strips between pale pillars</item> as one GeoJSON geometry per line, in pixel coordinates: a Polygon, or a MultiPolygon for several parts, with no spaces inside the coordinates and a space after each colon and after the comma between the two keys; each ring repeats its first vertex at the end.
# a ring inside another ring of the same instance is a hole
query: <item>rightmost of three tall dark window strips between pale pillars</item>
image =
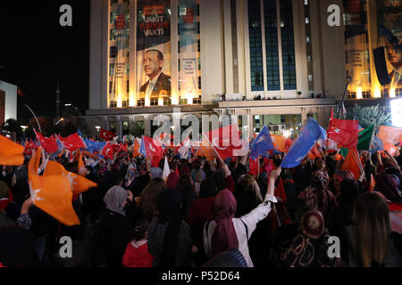
{"type": "Polygon", "coordinates": [[[293,90],[297,87],[292,0],[281,1],[281,21],[284,22],[281,28],[283,87],[285,90],[293,90]]]}

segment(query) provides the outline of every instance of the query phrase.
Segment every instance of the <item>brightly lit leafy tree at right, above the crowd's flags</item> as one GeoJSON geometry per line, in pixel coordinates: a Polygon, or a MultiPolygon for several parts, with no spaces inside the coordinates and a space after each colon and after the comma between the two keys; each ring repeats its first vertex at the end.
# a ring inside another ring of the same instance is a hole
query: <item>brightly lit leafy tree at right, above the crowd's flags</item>
{"type": "Polygon", "coordinates": [[[347,118],[358,119],[363,128],[374,125],[374,129],[377,129],[381,124],[389,123],[390,116],[387,109],[380,107],[379,104],[372,107],[361,107],[355,104],[355,107],[347,112],[347,118]]]}

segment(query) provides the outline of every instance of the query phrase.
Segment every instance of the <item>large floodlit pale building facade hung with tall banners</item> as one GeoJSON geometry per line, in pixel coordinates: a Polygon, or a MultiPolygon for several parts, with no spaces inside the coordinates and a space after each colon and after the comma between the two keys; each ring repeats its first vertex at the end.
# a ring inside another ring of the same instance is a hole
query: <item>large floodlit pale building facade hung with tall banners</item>
{"type": "Polygon", "coordinates": [[[150,135],[157,115],[231,114],[253,135],[309,113],[326,126],[347,76],[348,99],[397,96],[374,66],[380,1],[92,0],[88,125],[150,135]]]}

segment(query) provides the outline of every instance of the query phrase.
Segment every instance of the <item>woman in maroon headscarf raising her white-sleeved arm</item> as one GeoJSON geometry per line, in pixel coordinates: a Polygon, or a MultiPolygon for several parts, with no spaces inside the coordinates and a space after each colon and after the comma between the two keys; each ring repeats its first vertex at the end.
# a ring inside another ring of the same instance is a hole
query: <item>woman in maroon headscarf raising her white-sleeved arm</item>
{"type": "Polygon", "coordinates": [[[277,202],[273,196],[274,183],[280,174],[281,167],[271,172],[264,201],[245,216],[234,217],[237,202],[229,190],[220,191],[215,196],[214,220],[204,226],[204,248],[207,256],[212,257],[230,248],[238,248],[245,257],[247,266],[254,266],[248,252],[248,240],[255,231],[256,224],[272,210],[272,203],[277,202]]]}

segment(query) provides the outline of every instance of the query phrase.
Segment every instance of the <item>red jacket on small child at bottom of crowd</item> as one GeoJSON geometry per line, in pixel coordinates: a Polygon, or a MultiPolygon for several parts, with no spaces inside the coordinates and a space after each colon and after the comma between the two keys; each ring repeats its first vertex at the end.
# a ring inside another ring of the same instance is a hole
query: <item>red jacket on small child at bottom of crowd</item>
{"type": "Polygon", "coordinates": [[[147,242],[139,248],[135,248],[131,241],[126,247],[126,251],[121,260],[124,267],[152,267],[154,256],[148,251],[147,242]]]}

